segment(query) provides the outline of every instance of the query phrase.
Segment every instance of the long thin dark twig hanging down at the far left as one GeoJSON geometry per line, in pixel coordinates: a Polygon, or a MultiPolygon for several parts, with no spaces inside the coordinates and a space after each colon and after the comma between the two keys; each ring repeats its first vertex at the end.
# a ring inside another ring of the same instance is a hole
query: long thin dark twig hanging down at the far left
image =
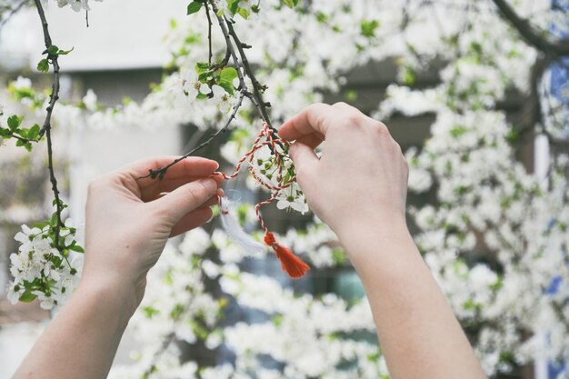
{"type": "Polygon", "coordinates": [[[49,29],[47,25],[47,20],[45,19],[44,7],[42,6],[41,0],[34,0],[35,7],[37,8],[37,13],[42,21],[42,27],[44,30],[44,40],[45,40],[45,49],[47,54],[47,59],[51,61],[52,66],[54,67],[54,80],[52,84],[52,95],[49,98],[49,105],[47,105],[44,120],[44,125],[40,130],[39,136],[45,135],[45,139],[47,142],[47,165],[49,169],[49,181],[52,184],[52,192],[54,193],[55,197],[55,213],[57,214],[57,223],[55,224],[55,248],[61,251],[61,246],[59,245],[59,232],[60,227],[63,225],[61,220],[61,200],[59,199],[59,189],[57,188],[57,179],[55,178],[55,169],[54,169],[54,152],[53,152],[53,141],[51,135],[51,118],[54,112],[55,103],[59,99],[59,63],[57,62],[57,55],[50,55],[47,50],[50,46],[52,46],[52,39],[49,35],[49,29]]]}

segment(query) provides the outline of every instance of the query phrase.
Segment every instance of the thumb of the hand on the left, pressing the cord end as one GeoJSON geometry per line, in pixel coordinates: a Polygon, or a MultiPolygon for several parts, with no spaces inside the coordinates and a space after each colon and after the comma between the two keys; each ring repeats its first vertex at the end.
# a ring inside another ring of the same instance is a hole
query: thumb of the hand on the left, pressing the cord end
{"type": "Polygon", "coordinates": [[[158,208],[168,214],[174,225],[186,214],[202,206],[215,195],[217,183],[211,178],[202,178],[181,185],[169,194],[155,200],[158,208]]]}

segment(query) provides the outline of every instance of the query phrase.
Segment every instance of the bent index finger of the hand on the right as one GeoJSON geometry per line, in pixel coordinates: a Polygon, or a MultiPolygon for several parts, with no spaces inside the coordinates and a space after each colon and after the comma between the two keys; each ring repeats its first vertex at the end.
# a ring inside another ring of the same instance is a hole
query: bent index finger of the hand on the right
{"type": "Polygon", "coordinates": [[[325,136],[334,117],[340,111],[332,105],[313,104],[304,108],[298,115],[285,122],[279,129],[279,136],[286,141],[294,141],[314,132],[325,136]]]}

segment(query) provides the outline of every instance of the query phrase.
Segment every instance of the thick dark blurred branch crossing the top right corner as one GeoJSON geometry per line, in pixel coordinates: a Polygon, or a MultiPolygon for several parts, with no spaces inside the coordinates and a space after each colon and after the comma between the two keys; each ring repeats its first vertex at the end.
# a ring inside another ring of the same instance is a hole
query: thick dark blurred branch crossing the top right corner
{"type": "Polygon", "coordinates": [[[540,35],[527,20],[524,20],[522,17],[517,15],[514,8],[508,4],[507,0],[493,0],[493,2],[504,19],[514,26],[518,33],[522,35],[526,43],[534,46],[537,50],[544,53],[557,56],[569,56],[569,40],[564,39],[558,43],[551,42],[544,36],[540,35]]]}

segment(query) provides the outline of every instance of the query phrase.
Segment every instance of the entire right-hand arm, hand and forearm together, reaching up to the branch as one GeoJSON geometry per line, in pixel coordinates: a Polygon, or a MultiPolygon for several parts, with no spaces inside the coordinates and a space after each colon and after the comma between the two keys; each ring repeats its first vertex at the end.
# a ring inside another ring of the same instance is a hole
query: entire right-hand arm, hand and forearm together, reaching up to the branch
{"type": "Polygon", "coordinates": [[[279,135],[314,213],[344,244],[393,378],[484,379],[405,223],[408,167],[387,128],[345,105],[310,105],[279,135]],[[314,147],[323,141],[320,159],[314,147]]]}

